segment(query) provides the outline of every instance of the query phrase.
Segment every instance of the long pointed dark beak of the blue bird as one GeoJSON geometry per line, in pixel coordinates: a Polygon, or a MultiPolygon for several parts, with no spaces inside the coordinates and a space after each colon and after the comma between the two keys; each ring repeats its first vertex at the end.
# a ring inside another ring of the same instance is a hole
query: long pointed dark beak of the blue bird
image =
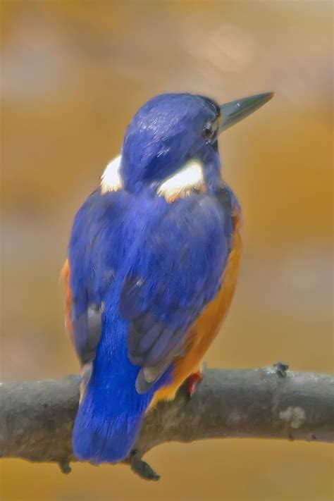
{"type": "Polygon", "coordinates": [[[242,120],[242,118],[246,118],[253,111],[256,111],[270,101],[272,97],[273,92],[264,92],[263,94],[256,94],[256,96],[242,97],[242,99],[222,104],[222,120],[219,124],[218,132],[223,132],[223,130],[228,129],[231,125],[242,120]]]}

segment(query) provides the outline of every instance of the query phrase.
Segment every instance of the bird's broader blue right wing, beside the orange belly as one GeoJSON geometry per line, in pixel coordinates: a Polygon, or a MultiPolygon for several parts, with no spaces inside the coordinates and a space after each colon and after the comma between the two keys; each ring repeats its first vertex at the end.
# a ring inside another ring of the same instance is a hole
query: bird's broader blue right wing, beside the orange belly
{"type": "Polygon", "coordinates": [[[221,285],[230,214],[214,197],[192,194],[168,207],[145,233],[120,295],[128,354],[146,392],[183,353],[190,326],[221,285]]]}

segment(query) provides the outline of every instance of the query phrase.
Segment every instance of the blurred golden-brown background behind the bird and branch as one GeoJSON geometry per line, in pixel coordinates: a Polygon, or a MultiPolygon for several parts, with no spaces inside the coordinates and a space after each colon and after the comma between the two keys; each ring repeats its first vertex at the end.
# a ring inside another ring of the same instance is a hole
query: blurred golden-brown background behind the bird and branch
{"type": "MultiPolygon", "coordinates": [[[[154,94],[273,90],[220,140],[245,251],[209,366],[333,370],[330,1],[1,1],[1,378],[78,372],[59,270],[76,209],[154,94]]],[[[125,466],[1,461],[1,499],[333,499],[333,449],[211,440],[125,466]]]]}

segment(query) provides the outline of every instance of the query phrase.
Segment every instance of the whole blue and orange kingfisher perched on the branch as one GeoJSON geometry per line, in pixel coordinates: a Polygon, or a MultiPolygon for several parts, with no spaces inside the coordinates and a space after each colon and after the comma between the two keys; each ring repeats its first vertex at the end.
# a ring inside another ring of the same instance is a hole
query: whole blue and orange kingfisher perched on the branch
{"type": "Polygon", "coordinates": [[[241,250],[240,205],[217,139],[272,96],[222,106],[192,94],[150,99],[76,214],[63,278],[82,366],[78,459],[125,459],[145,413],[186,380],[192,395],[202,378],[241,250]]]}

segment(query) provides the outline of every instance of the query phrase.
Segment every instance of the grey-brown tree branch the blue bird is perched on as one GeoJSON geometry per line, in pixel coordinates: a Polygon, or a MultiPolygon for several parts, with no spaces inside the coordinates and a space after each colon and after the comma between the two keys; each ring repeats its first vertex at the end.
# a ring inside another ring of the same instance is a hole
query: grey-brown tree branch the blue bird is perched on
{"type": "MultiPolygon", "coordinates": [[[[211,369],[189,401],[183,388],[173,402],[161,402],[144,420],[126,462],[144,478],[159,478],[142,461],[164,442],[204,438],[285,438],[332,442],[334,376],[287,371],[284,364],[262,369],[211,369]]],[[[70,471],[78,376],[0,385],[0,454],[58,462],[70,471]]]]}

